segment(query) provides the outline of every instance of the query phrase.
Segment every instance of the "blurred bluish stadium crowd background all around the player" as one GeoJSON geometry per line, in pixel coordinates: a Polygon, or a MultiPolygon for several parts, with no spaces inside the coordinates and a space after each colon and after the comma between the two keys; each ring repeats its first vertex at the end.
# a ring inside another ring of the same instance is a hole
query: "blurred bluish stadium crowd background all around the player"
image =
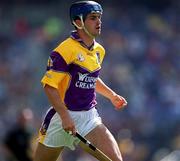
{"type": "MultiPolygon", "coordinates": [[[[40,80],[50,52],[73,30],[72,2],[0,0],[0,161],[20,161],[8,148],[14,136],[32,154],[49,108],[40,80]]],[[[98,95],[104,123],[124,161],[180,161],[180,1],[97,2],[104,9],[101,78],[128,100],[116,111],[98,95]]],[[[95,159],[66,149],[59,160],[95,159]]]]}

